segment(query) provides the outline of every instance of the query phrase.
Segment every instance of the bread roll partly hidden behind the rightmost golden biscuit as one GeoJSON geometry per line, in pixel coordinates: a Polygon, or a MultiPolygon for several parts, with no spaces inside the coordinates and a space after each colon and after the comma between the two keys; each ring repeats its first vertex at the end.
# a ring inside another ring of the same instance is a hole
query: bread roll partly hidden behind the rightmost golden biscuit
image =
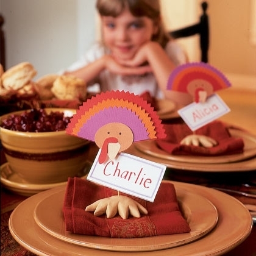
{"type": "Polygon", "coordinates": [[[36,81],[35,90],[37,90],[40,99],[52,99],[55,97],[51,89],[57,77],[59,77],[57,74],[47,74],[36,81]]]}

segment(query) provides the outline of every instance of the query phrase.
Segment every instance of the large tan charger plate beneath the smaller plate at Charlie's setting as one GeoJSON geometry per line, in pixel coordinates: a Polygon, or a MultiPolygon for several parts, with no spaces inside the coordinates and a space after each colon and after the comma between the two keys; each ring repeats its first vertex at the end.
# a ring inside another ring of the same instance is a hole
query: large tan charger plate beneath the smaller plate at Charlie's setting
{"type": "MultiPolygon", "coordinates": [[[[53,188],[30,197],[22,202],[9,219],[9,229],[15,240],[30,252],[37,255],[73,255],[73,256],[178,256],[178,255],[222,255],[242,243],[251,233],[252,219],[248,210],[235,198],[221,191],[188,183],[172,182],[183,193],[193,192],[207,198],[218,210],[218,225],[215,229],[193,243],[170,249],[151,252],[113,252],[99,251],[76,244],[66,243],[44,232],[34,220],[38,202],[50,194],[63,191],[62,187],[53,188]],[[232,210],[230,210],[232,209],[232,210]],[[214,244],[214,246],[213,246],[214,244]]],[[[163,236],[155,236],[161,240],[163,236]]],[[[135,241],[135,240],[133,240],[135,241]]]]}

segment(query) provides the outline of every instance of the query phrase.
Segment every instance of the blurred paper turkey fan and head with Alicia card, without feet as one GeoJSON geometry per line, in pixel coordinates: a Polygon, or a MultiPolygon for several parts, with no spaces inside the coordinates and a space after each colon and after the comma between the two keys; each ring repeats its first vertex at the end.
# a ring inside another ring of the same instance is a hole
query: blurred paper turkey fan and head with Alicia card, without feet
{"type": "Polygon", "coordinates": [[[193,62],[179,65],[172,71],[167,90],[191,95],[193,103],[181,108],[178,113],[194,131],[230,112],[229,107],[215,93],[230,86],[229,79],[215,66],[193,62]]]}

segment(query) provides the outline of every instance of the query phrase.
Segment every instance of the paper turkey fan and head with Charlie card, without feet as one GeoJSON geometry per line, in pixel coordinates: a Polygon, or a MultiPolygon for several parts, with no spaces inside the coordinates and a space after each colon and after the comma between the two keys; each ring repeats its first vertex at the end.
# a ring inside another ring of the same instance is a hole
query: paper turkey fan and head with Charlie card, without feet
{"type": "Polygon", "coordinates": [[[166,166],[122,153],[135,141],[166,137],[151,104],[128,91],[102,92],[79,107],[66,132],[99,148],[88,180],[154,202],[166,166]]]}

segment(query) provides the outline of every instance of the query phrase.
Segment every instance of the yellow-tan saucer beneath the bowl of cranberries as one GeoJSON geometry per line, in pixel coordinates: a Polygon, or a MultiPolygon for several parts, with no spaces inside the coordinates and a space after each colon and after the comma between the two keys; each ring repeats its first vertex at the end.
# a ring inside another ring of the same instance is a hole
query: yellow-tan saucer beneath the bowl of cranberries
{"type": "MultiPolygon", "coordinates": [[[[86,177],[88,171],[90,170],[91,164],[87,163],[85,169],[77,174],[78,177],[86,177]]],[[[49,190],[50,188],[55,188],[60,185],[65,185],[65,182],[59,183],[49,183],[49,184],[32,184],[26,182],[18,174],[10,169],[9,163],[4,163],[1,165],[1,183],[2,186],[16,194],[21,194],[22,196],[32,196],[44,190],[49,190]]]]}

